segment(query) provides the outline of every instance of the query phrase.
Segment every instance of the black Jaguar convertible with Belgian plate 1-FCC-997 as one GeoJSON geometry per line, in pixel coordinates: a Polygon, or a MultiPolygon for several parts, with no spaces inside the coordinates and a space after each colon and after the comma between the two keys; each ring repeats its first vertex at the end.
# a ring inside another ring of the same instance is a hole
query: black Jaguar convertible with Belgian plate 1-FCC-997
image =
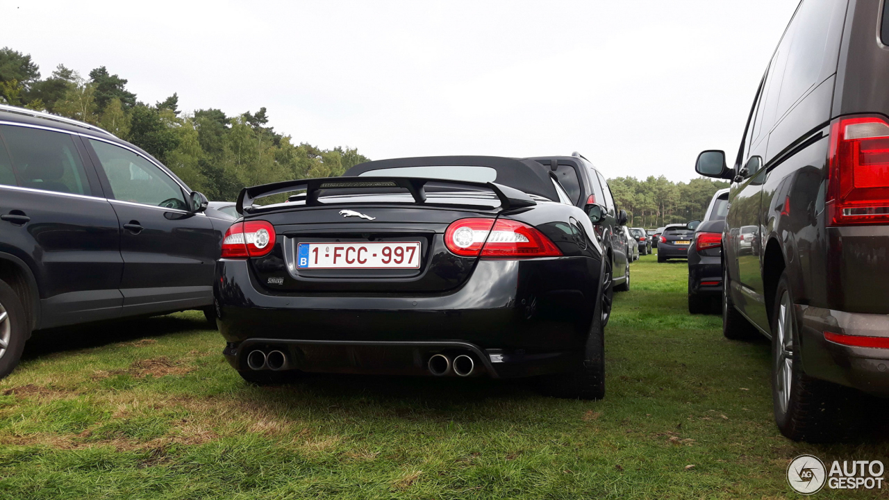
{"type": "Polygon", "coordinates": [[[605,395],[611,266],[549,165],[416,157],[241,191],[214,294],[245,380],[538,376],[605,395]]]}

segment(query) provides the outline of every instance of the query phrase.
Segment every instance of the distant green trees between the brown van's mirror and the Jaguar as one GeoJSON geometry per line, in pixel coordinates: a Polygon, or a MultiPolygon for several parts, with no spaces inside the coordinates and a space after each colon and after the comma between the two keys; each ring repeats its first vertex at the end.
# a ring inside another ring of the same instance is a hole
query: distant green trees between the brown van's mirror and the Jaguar
{"type": "Polygon", "coordinates": [[[717,190],[728,187],[728,182],[693,179],[688,183],[655,178],[645,181],[635,177],[609,179],[614,202],[627,211],[629,225],[657,228],[675,222],[702,219],[710,199],[717,190]]]}

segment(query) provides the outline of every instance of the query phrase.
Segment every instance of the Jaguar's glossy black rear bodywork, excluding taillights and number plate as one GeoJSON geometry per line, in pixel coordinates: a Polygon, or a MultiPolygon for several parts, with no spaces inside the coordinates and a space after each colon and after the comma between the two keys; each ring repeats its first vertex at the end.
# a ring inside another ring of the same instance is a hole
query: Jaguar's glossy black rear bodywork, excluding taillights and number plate
{"type": "Polygon", "coordinates": [[[603,246],[579,207],[537,199],[534,206],[501,211],[497,198],[477,192],[452,192],[436,198],[438,205],[379,202],[386,197],[337,198],[336,206],[294,202],[244,214],[245,221],[271,222],[276,241],[267,256],[216,264],[218,324],[233,367],[247,370],[246,351],[257,345],[288,350],[306,371],[416,375],[427,373],[431,353],[453,350],[454,342],[482,353],[495,377],[564,370],[582,354],[601,292],[603,246]],[[467,201],[469,207],[456,208],[467,201]],[[346,219],[343,208],[374,220],[346,219]],[[445,229],[468,217],[525,222],[563,256],[454,255],[444,245],[445,229]],[[288,265],[298,242],[328,240],[419,240],[421,267],[304,271],[288,265]]]}

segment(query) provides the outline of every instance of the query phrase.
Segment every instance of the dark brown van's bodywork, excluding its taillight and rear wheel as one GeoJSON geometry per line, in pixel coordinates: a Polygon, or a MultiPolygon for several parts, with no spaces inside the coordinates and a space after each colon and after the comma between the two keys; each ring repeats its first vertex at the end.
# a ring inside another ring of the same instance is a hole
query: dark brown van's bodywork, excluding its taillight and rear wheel
{"type": "MultiPolygon", "coordinates": [[[[728,174],[763,165],[732,183],[724,261],[735,306],[765,335],[771,335],[778,279],[787,271],[808,375],[889,394],[889,350],[845,347],[824,338],[825,331],[889,337],[889,226],[828,227],[824,210],[830,121],[851,114],[889,116],[889,49],[878,36],[882,5],[821,3],[817,15],[826,17],[818,34],[820,60],[800,60],[805,52],[791,47],[791,36],[782,37],[728,174]],[[790,69],[787,60],[797,66],[790,69]],[[796,85],[793,78],[803,74],[811,85],[796,85]],[[778,95],[775,89],[781,98],[772,110],[768,96],[778,95]]],[[[792,20],[789,33],[793,27],[792,20]]]]}

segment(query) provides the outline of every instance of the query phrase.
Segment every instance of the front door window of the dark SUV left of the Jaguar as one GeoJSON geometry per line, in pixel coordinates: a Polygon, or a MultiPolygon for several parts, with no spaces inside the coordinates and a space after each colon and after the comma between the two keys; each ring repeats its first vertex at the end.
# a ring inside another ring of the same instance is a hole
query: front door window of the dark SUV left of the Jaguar
{"type": "Polygon", "coordinates": [[[129,149],[90,139],[115,199],[144,205],[188,209],[176,181],[157,165],[129,149]]]}

